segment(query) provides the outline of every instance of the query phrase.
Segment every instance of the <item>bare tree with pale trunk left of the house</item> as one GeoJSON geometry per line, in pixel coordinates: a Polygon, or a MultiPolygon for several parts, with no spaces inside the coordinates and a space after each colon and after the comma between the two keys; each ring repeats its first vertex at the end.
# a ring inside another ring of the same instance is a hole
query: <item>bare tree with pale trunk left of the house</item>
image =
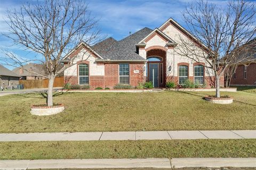
{"type": "Polygon", "coordinates": [[[93,44],[99,39],[97,21],[91,17],[87,4],[77,0],[45,0],[22,5],[19,10],[7,11],[6,24],[10,33],[5,34],[15,45],[37,55],[23,59],[5,50],[6,64],[22,66],[30,61],[42,63],[47,75],[36,73],[49,79],[47,106],[53,105],[53,82],[58,74],[76,64],[74,56],[61,69],[60,60],[71,50],[76,50],[82,41],[93,44]]]}

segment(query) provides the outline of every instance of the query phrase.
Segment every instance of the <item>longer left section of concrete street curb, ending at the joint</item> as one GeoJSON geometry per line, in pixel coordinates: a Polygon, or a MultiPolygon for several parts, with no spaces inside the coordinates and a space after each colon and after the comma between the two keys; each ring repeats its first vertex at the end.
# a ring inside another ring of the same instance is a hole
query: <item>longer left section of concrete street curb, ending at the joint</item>
{"type": "Polygon", "coordinates": [[[170,159],[40,159],[0,160],[0,169],[171,168],[170,159]]]}

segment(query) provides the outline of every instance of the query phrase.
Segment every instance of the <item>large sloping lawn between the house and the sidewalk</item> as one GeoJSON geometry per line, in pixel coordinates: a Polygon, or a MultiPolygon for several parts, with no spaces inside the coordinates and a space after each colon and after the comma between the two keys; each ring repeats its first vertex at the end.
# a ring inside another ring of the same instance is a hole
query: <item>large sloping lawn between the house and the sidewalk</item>
{"type": "Polygon", "coordinates": [[[203,100],[214,92],[56,94],[65,111],[52,116],[31,115],[30,106],[44,104],[40,94],[0,97],[0,133],[151,130],[255,130],[255,89],[221,92],[234,97],[230,105],[203,100]]]}

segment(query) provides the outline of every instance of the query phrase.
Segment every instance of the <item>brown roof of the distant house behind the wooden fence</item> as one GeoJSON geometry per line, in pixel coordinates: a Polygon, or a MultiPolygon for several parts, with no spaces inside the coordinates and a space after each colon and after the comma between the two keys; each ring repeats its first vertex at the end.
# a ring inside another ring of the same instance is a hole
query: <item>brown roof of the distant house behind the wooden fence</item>
{"type": "Polygon", "coordinates": [[[40,77],[38,74],[30,73],[27,70],[36,72],[38,74],[46,75],[46,72],[44,70],[44,66],[42,64],[36,64],[36,63],[29,63],[29,64],[26,64],[26,65],[23,65],[21,67],[13,69],[12,71],[15,72],[16,74],[22,76],[22,77],[27,77],[27,76],[40,77]]]}

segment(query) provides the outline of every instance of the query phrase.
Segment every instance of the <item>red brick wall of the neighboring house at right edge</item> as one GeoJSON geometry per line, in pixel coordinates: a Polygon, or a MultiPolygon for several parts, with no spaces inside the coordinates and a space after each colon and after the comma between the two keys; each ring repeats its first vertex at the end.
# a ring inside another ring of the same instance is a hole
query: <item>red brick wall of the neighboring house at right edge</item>
{"type": "Polygon", "coordinates": [[[247,66],[247,77],[244,79],[244,65],[238,65],[236,69],[236,79],[231,78],[231,85],[251,85],[256,86],[256,63],[247,66]]]}

